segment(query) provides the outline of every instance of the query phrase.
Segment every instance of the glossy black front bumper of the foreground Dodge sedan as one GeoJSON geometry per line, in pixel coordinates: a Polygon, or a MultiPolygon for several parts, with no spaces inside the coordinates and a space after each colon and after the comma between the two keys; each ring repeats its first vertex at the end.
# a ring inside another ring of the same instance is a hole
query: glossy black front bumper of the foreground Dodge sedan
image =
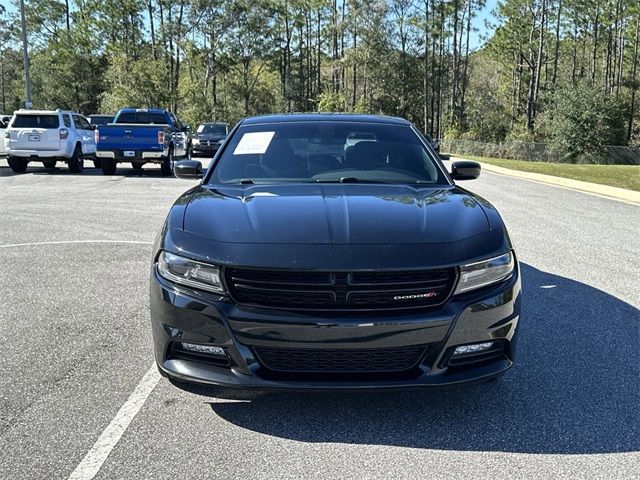
{"type": "Polygon", "coordinates": [[[437,310],[336,316],[240,307],[213,294],[183,289],[151,275],[155,356],[167,377],[187,383],[257,390],[369,390],[481,382],[513,364],[520,317],[519,272],[505,282],[450,299],[437,310]],[[457,345],[494,341],[502,354],[449,366],[457,345]],[[176,358],[175,342],[223,347],[229,366],[176,358]],[[424,345],[410,371],[398,374],[283,374],[266,368],[256,348],[376,349],[424,345]]]}

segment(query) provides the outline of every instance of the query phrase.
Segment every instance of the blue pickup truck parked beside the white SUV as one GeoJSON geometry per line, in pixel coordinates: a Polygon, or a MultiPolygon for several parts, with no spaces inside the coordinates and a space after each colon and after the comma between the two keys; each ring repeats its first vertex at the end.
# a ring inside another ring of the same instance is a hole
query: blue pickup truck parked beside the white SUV
{"type": "Polygon", "coordinates": [[[162,175],[172,175],[175,159],[188,157],[191,149],[189,128],[173,113],[153,108],[123,108],[113,123],[95,130],[95,138],[105,175],[115,174],[119,162],[138,170],[159,163],[162,175]]]}

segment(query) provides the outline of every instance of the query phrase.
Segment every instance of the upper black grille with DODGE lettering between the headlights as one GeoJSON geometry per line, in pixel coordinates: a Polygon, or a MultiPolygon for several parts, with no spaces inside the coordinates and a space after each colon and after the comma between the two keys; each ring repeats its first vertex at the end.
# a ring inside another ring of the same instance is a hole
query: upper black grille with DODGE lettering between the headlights
{"type": "Polygon", "coordinates": [[[446,301],[454,268],[382,272],[316,272],[227,268],[235,302],[299,310],[424,308],[446,301]]]}

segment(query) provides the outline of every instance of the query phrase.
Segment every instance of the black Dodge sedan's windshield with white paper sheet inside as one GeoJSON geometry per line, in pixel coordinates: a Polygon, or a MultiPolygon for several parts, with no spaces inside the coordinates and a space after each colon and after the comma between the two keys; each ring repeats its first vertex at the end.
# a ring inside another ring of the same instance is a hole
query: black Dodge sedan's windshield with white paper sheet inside
{"type": "Polygon", "coordinates": [[[408,125],[327,121],[241,126],[209,182],[448,184],[408,125]]]}

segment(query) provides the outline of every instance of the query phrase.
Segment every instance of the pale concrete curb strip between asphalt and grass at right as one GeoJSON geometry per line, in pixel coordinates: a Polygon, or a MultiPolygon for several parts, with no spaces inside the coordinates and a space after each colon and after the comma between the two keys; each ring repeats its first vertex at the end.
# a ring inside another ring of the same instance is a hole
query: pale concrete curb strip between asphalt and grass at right
{"type": "MultiPolygon", "coordinates": [[[[457,160],[458,158],[459,157],[452,156],[451,160],[457,160]]],[[[459,159],[464,160],[463,158],[459,159]]],[[[591,195],[597,195],[599,197],[618,200],[621,202],[640,206],[640,192],[636,192],[634,190],[627,190],[626,188],[619,187],[610,187],[608,185],[601,185],[599,183],[583,182],[581,180],[573,180],[571,178],[554,177],[553,175],[545,175],[543,173],[512,170],[510,168],[498,167],[496,165],[490,165],[483,162],[478,163],[480,163],[480,165],[482,166],[482,170],[486,170],[487,172],[506,175],[509,177],[521,178],[523,180],[529,180],[537,183],[544,183],[546,185],[567,188],[569,190],[589,193],[591,195]]],[[[638,168],[638,173],[640,174],[640,167],[638,168]]]]}

